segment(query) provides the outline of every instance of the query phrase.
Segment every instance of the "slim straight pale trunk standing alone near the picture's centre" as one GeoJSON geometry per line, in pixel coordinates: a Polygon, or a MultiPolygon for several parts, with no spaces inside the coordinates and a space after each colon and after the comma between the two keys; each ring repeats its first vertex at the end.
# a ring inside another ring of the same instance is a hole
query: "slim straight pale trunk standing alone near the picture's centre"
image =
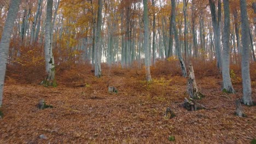
{"type": "Polygon", "coordinates": [[[145,69],[147,81],[152,81],[150,74],[150,58],[149,58],[149,23],[148,23],[148,0],[143,0],[143,19],[144,19],[144,54],[145,69]]]}

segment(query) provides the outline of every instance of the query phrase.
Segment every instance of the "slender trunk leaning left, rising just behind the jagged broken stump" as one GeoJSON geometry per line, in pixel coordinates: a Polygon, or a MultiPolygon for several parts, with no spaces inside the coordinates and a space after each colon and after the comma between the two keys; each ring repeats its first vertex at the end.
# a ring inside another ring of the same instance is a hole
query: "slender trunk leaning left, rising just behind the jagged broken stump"
{"type": "Polygon", "coordinates": [[[173,30],[174,30],[174,38],[175,38],[175,46],[176,46],[176,50],[178,51],[178,57],[179,57],[179,62],[181,63],[181,69],[182,69],[182,75],[184,77],[187,77],[187,70],[185,67],[185,63],[182,57],[182,53],[181,53],[181,45],[179,43],[179,35],[177,32],[177,28],[176,28],[176,12],[175,12],[175,8],[176,8],[176,2],[175,0],[171,0],[172,3],[172,26],[173,26],[173,30]]]}

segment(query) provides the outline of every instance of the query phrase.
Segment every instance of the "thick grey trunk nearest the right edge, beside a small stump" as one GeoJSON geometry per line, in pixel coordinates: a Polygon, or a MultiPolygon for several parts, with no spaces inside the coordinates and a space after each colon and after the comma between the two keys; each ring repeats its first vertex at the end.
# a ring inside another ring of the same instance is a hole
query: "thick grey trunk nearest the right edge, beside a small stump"
{"type": "Polygon", "coordinates": [[[249,22],[246,6],[246,0],[240,0],[241,8],[241,33],[242,33],[242,83],[243,83],[243,103],[252,105],[252,87],[250,76],[250,49],[249,49],[249,22]]]}

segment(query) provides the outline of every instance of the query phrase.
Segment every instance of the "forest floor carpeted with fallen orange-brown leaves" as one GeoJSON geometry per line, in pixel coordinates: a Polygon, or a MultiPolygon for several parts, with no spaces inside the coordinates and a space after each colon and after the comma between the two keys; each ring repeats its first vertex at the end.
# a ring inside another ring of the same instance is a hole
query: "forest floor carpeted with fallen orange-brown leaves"
{"type": "MultiPolygon", "coordinates": [[[[178,66],[177,73],[168,70],[174,65],[153,67],[151,83],[144,80],[143,68],[103,67],[100,79],[89,67],[59,68],[56,88],[40,86],[40,80],[26,83],[18,78],[23,74],[9,68],[0,143],[172,143],[169,137],[174,143],[251,143],[256,139],[256,106],[242,105],[247,117],[234,115],[235,100],[242,97],[239,76],[234,81],[237,93],[226,94],[220,91],[217,70],[208,69],[207,63],[195,65],[197,85],[206,96],[198,102],[209,110],[187,111],[181,106],[188,97],[187,79],[178,66]],[[118,93],[109,94],[109,85],[118,93]],[[53,109],[39,110],[40,99],[53,109]],[[176,117],[165,118],[167,107],[176,117]],[[41,134],[47,139],[40,139],[41,134]]],[[[31,79],[30,74],[27,77],[31,79]]],[[[255,101],[253,76],[252,83],[255,101]]]]}

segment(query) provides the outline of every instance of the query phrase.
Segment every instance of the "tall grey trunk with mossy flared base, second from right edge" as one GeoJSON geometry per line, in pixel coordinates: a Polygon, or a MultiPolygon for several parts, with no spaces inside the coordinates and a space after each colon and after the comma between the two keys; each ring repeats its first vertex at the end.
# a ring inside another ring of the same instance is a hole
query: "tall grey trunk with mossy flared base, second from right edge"
{"type": "Polygon", "coordinates": [[[223,30],[223,67],[222,67],[222,79],[223,79],[223,91],[228,93],[235,93],[230,79],[229,71],[229,42],[230,42],[230,9],[229,0],[223,0],[224,3],[224,30],[223,30]]]}

